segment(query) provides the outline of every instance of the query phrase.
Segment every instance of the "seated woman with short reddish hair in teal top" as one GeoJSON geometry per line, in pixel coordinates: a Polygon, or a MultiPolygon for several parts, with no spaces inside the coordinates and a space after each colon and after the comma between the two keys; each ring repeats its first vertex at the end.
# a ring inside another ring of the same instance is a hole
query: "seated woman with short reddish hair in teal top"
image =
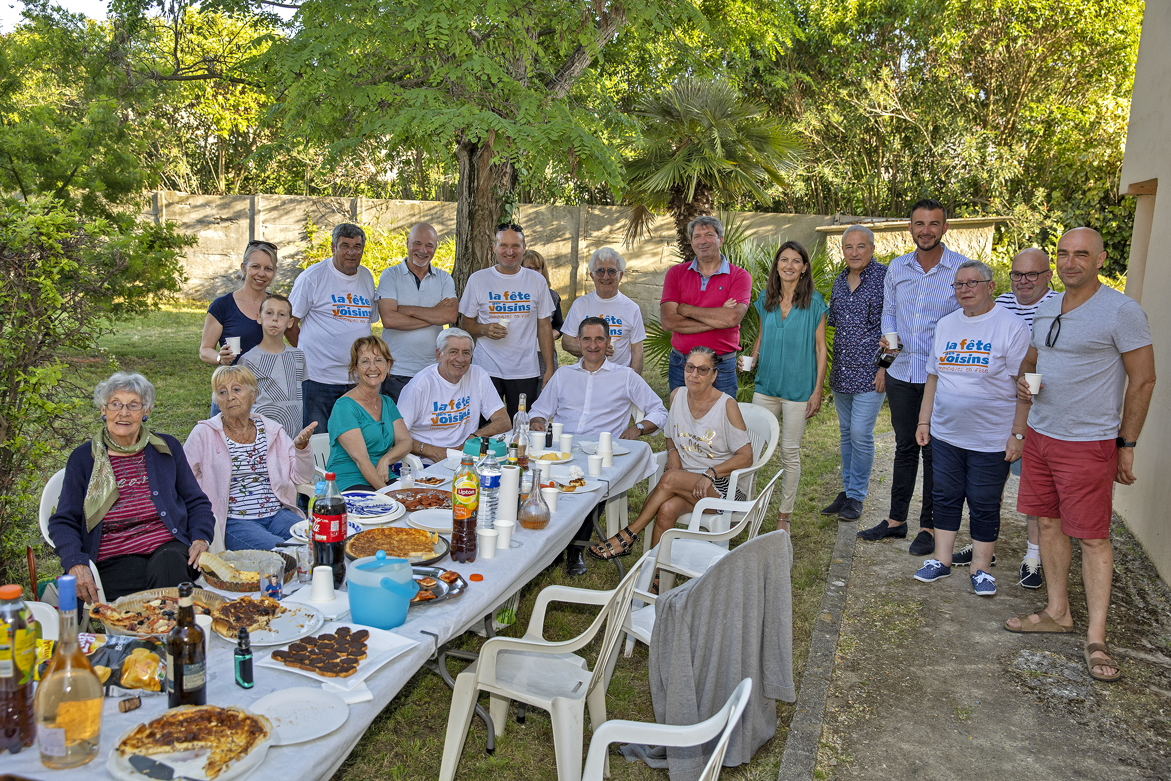
{"type": "Polygon", "coordinates": [[[411,452],[411,434],[398,407],[379,392],[395,358],[377,336],[355,340],[350,382],[329,415],[329,464],[337,489],[377,491],[390,482],[390,465],[411,452]]]}

